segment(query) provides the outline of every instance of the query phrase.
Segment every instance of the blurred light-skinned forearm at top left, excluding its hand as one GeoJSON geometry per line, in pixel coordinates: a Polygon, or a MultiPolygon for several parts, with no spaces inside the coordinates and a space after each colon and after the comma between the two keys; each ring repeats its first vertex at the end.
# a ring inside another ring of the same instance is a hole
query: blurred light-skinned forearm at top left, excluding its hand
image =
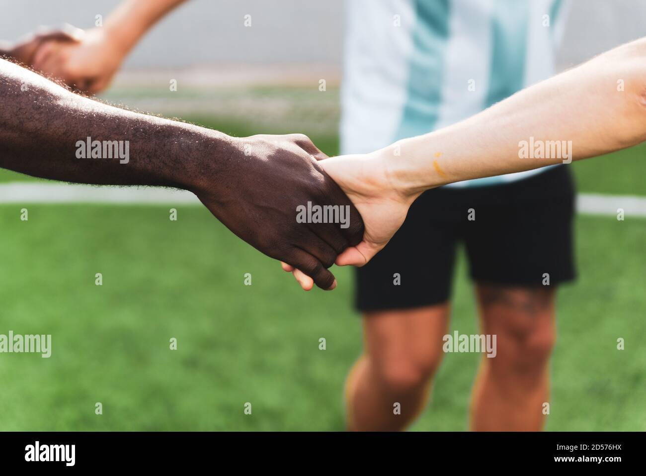
{"type": "Polygon", "coordinates": [[[185,1],[187,0],[125,0],[110,13],[103,27],[125,56],[145,32],[185,1]]]}

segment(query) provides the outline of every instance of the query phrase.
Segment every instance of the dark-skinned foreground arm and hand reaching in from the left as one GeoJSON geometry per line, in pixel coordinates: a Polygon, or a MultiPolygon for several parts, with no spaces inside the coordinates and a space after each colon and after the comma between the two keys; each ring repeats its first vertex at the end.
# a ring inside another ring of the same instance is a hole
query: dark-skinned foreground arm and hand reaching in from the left
{"type": "MultiPolygon", "coordinates": [[[[0,167],[45,179],[187,189],[238,237],[324,289],[327,268],[363,224],[304,135],[233,138],[73,94],[0,60],[0,167]],[[286,193],[289,191],[289,193],[286,193]],[[346,223],[297,222],[308,202],[343,206],[346,223]],[[346,208],[347,206],[347,208],[346,208]]],[[[215,245],[216,246],[216,245],[215,245]]]]}

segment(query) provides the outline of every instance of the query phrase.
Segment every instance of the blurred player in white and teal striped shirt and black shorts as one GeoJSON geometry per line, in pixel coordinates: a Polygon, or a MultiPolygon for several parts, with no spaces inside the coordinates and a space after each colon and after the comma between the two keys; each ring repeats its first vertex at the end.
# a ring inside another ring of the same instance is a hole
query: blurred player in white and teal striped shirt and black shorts
{"type": "MultiPolygon", "coordinates": [[[[346,5],[342,154],[442,129],[554,74],[564,14],[558,0],[346,5]]],[[[492,125],[488,133],[506,129],[492,125]]],[[[474,137],[461,140],[468,148],[474,137]]],[[[395,162],[404,157],[394,152],[395,162]]],[[[445,164],[444,146],[433,153],[445,164]]],[[[390,213],[393,222],[402,219],[390,213]]],[[[483,358],[475,378],[470,428],[542,429],[556,291],[575,277],[570,171],[557,165],[435,188],[404,216],[388,246],[357,270],[364,353],[346,382],[348,428],[405,429],[426,405],[444,354],[455,253],[464,244],[481,327],[497,336],[497,356],[483,358]]],[[[355,263],[363,264],[372,250],[357,249],[366,256],[355,263]]]]}

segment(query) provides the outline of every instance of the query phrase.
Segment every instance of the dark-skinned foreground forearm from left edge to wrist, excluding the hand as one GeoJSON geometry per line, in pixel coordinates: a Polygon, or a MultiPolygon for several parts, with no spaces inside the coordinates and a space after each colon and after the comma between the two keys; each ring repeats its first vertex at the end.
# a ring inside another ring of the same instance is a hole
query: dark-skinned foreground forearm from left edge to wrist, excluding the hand
{"type": "Polygon", "coordinates": [[[204,158],[216,167],[234,150],[229,136],[78,96],[4,60],[0,103],[0,167],[36,177],[191,189],[204,158]]]}

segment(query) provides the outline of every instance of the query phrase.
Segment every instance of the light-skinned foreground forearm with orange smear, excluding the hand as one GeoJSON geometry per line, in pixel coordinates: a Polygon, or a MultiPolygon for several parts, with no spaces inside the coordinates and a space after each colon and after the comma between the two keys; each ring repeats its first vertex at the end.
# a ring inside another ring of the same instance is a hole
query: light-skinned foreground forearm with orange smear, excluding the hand
{"type": "Polygon", "coordinates": [[[646,41],[641,39],[468,120],[396,142],[377,156],[398,188],[418,195],[451,182],[567,163],[644,140],[646,41]]]}

